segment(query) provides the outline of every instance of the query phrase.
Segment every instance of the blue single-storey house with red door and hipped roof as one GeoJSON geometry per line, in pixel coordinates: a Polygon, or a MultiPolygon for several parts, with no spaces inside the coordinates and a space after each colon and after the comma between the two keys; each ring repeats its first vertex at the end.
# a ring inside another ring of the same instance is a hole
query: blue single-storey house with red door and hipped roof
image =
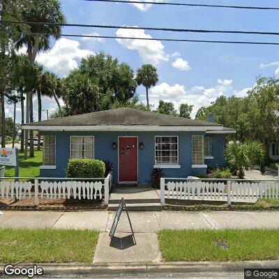
{"type": "Polygon", "coordinates": [[[216,123],[128,108],[91,112],[22,125],[43,135],[40,176],[63,177],[69,158],[113,163],[114,183],[148,183],[160,167],[167,177],[225,166],[225,134],[216,123]]]}

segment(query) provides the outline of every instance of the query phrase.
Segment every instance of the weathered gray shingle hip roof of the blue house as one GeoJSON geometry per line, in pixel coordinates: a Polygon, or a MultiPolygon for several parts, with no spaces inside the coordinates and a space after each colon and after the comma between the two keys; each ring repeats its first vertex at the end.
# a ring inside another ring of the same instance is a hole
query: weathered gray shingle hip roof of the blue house
{"type": "MultiPolygon", "coordinates": [[[[158,114],[156,112],[144,112],[130,108],[105,110],[102,112],[90,112],[73,116],[61,117],[45,121],[28,123],[28,126],[222,126],[182,117],[158,114]]],[[[22,125],[24,126],[24,125],[22,125]]]]}

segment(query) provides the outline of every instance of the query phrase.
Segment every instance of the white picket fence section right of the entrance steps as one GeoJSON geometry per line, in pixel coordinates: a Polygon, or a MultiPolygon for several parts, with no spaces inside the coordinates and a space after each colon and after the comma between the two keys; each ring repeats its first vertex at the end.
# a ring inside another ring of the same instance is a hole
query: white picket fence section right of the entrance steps
{"type": "Polygon", "coordinates": [[[247,181],[244,179],[160,179],[160,199],[278,199],[279,180],[247,181]]]}

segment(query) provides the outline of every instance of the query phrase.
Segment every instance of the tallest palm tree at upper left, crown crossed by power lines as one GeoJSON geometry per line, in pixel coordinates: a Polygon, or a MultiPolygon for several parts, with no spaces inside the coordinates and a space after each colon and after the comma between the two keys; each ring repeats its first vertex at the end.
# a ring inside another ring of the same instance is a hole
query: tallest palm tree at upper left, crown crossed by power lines
{"type": "MultiPolygon", "coordinates": [[[[50,22],[52,24],[27,24],[29,33],[22,33],[21,39],[17,42],[17,48],[27,47],[29,61],[33,66],[36,55],[40,51],[50,49],[50,38],[56,40],[60,37],[61,26],[55,23],[65,23],[65,17],[61,11],[61,4],[58,0],[33,0],[32,5],[22,11],[22,17],[25,22],[50,22]]],[[[33,89],[27,92],[27,113],[26,122],[33,120],[32,105],[33,89]]],[[[33,132],[30,131],[30,157],[33,156],[33,141],[31,137],[33,132]]],[[[24,158],[27,158],[28,133],[24,135],[24,158]]]]}

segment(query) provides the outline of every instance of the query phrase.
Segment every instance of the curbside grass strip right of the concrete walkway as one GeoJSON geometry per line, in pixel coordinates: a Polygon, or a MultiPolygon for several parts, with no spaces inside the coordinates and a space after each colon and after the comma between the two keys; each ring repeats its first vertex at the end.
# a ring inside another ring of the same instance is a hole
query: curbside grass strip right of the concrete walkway
{"type": "Polygon", "coordinates": [[[279,229],[163,230],[160,250],[167,262],[279,259],[279,229]],[[216,246],[225,241],[229,249],[216,246]]]}

